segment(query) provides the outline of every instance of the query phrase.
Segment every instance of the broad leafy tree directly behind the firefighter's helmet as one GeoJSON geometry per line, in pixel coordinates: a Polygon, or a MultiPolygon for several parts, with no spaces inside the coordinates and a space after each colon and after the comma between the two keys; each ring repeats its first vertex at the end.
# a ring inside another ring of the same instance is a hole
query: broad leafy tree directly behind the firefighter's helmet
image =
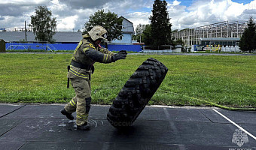
{"type": "Polygon", "coordinates": [[[90,31],[93,26],[102,26],[108,31],[108,41],[117,39],[122,35],[123,18],[118,17],[116,13],[105,13],[104,10],[98,10],[90,16],[87,23],[84,24],[84,33],[90,31]]]}

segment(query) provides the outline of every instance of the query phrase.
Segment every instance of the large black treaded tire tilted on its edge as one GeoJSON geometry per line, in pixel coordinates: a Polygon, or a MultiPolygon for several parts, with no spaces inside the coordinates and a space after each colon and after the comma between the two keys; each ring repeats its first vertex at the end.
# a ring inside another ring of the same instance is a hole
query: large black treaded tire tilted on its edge
{"type": "Polygon", "coordinates": [[[142,113],[166,77],[168,68],[154,58],[148,58],[134,72],[111,105],[107,119],[118,129],[129,127],[142,113]]]}

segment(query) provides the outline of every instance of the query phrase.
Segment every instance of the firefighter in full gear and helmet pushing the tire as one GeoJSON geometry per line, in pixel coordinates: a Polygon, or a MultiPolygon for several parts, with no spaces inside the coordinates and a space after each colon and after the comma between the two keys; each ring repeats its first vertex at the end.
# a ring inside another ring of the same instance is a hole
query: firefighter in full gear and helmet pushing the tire
{"type": "Polygon", "coordinates": [[[69,80],[75,89],[75,97],[66,104],[62,115],[66,115],[70,120],[74,119],[72,113],[76,111],[76,124],[80,130],[90,130],[90,125],[87,122],[90,103],[91,103],[91,88],[90,76],[93,74],[95,62],[111,63],[117,60],[126,58],[126,51],[120,51],[117,54],[102,48],[99,44],[102,40],[106,40],[107,31],[102,26],[95,26],[87,34],[84,34],[83,39],[78,43],[78,46],[73,53],[72,62],[69,66],[68,73],[68,88],[69,80]]]}

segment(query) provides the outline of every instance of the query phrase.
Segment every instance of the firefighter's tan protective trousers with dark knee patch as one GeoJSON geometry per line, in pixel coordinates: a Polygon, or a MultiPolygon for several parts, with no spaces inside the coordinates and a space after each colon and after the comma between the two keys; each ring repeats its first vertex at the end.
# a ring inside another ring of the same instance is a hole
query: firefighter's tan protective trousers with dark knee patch
{"type": "Polygon", "coordinates": [[[82,78],[71,78],[71,83],[75,89],[75,97],[66,104],[65,110],[68,113],[77,112],[76,124],[81,126],[87,123],[90,111],[90,80],[82,78]]]}

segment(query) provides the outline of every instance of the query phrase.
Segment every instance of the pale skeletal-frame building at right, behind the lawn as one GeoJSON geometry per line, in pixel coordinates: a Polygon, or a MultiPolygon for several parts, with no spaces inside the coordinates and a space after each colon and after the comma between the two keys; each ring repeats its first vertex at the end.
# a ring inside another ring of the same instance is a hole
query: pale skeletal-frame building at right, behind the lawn
{"type": "Polygon", "coordinates": [[[186,47],[198,46],[237,46],[247,22],[214,23],[197,28],[185,28],[172,33],[175,40],[182,40],[186,47]]]}

